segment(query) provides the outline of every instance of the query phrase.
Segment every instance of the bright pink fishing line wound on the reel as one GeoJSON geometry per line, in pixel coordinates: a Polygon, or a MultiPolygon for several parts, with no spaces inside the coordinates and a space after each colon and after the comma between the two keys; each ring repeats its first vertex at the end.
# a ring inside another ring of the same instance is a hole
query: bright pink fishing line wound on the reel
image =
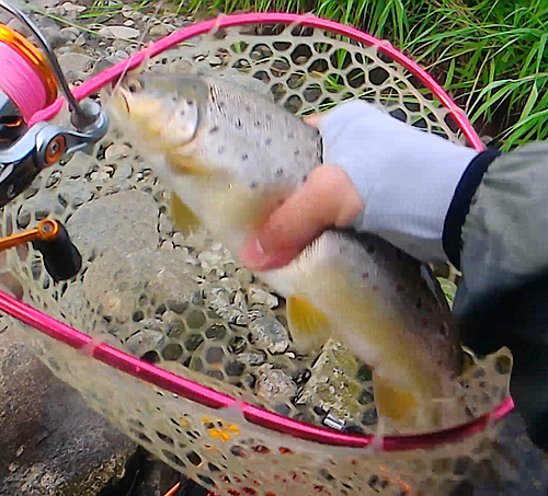
{"type": "Polygon", "coordinates": [[[44,82],[36,69],[19,51],[0,42],[0,90],[18,106],[27,123],[46,106],[44,82]]]}

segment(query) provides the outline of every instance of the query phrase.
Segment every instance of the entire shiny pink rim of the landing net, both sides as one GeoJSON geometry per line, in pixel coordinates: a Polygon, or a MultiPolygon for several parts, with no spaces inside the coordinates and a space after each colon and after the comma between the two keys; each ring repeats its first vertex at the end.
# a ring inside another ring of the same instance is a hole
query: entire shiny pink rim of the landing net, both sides
{"type": "MultiPolygon", "coordinates": [[[[222,27],[260,23],[299,23],[304,26],[323,28],[332,33],[345,35],[357,42],[365,43],[366,45],[378,47],[380,51],[390,56],[412,74],[418,77],[449,111],[450,115],[454,117],[470,145],[478,151],[483,150],[484,147],[479,139],[479,136],[468,122],[463,111],[453,102],[453,100],[432,78],[432,76],[430,76],[418,64],[403,55],[388,42],[378,39],[375,36],[363,33],[353,27],[311,15],[290,13],[233,14],[193,24],[172,33],[171,35],[153,43],[149,47],[138,51],[127,60],[124,60],[123,62],[119,62],[91,78],[85,83],[73,90],[75,97],[77,100],[81,100],[96,93],[102,86],[115,81],[125,71],[137,68],[146,58],[155,57],[194,36],[205,34],[215,28],[218,30],[222,27]]],[[[60,97],[48,107],[37,112],[31,119],[30,125],[43,120],[49,120],[61,109],[62,103],[64,99],[60,97]]],[[[443,445],[463,441],[464,439],[484,430],[491,423],[503,418],[514,408],[514,402],[512,397],[509,396],[493,411],[484,415],[458,426],[433,432],[384,436],[379,440],[377,440],[373,435],[341,434],[326,427],[312,426],[273,412],[269,412],[264,408],[250,405],[236,400],[232,396],[219,393],[210,388],[168,372],[159,367],[156,367],[155,365],[141,361],[138,358],[135,358],[132,355],[121,351],[112,346],[95,343],[89,335],[59,322],[49,315],[46,315],[39,310],[23,303],[3,291],[0,291],[0,310],[58,342],[65,343],[75,349],[82,350],[82,353],[85,353],[92,358],[110,367],[144,380],[165,391],[216,410],[230,407],[237,404],[238,407],[241,408],[244,418],[252,424],[269,428],[273,431],[289,435],[298,439],[315,441],[322,445],[356,449],[374,447],[377,451],[432,449],[443,445]]]]}

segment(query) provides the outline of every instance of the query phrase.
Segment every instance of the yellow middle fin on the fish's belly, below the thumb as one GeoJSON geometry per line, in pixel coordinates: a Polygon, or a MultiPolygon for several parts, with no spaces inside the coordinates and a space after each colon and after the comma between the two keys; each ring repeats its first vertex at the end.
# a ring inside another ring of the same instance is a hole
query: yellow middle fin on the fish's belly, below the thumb
{"type": "Polygon", "coordinates": [[[295,345],[304,353],[320,349],[331,337],[329,319],[304,295],[288,298],[287,322],[295,345]]]}

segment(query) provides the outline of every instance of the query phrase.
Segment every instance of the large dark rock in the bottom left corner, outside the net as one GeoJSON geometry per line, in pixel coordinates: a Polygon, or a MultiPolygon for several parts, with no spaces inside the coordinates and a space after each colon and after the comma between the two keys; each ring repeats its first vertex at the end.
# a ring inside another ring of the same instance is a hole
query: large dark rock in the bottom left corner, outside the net
{"type": "Polygon", "coordinates": [[[23,344],[0,332],[0,494],[98,494],[136,446],[89,408],[23,344]]]}

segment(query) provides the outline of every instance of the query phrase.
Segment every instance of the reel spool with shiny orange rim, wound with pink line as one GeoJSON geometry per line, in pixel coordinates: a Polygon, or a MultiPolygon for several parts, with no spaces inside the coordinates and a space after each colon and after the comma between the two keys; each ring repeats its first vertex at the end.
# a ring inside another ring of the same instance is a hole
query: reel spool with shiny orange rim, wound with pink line
{"type": "Polygon", "coordinates": [[[0,147],[24,134],[32,116],[57,99],[57,80],[44,54],[0,24],[0,147]]]}

